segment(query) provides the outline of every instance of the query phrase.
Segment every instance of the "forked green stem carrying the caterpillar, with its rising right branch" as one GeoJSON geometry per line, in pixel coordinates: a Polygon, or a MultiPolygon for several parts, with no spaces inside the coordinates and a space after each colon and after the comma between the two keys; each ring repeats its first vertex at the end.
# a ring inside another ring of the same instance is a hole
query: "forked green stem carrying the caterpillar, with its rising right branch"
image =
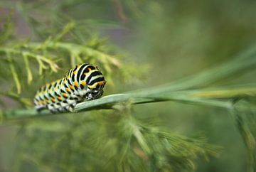
{"type": "MultiPolygon", "coordinates": [[[[60,47],[68,44],[56,44],[60,47]]],[[[73,46],[73,45],[71,45],[73,46]]],[[[60,48],[59,47],[59,48],[60,48]]],[[[190,104],[203,104],[213,107],[233,109],[233,100],[240,97],[255,97],[256,87],[238,86],[224,87],[206,90],[206,86],[218,82],[227,77],[242,73],[242,71],[255,69],[256,49],[250,48],[240,53],[228,63],[223,63],[215,68],[206,70],[166,85],[126,92],[124,94],[109,95],[98,100],[82,102],[75,106],[75,112],[82,112],[92,109],[115,109],[119,104],[130,102],[132,104],[143,104],[149,102],[176,101],[190,104]]],[[[4,119],[22,117],[37,117],[41,114],[50,114],[48,111],[38,114],[34,109],[12,110],[3,112],[4,119]]]]}

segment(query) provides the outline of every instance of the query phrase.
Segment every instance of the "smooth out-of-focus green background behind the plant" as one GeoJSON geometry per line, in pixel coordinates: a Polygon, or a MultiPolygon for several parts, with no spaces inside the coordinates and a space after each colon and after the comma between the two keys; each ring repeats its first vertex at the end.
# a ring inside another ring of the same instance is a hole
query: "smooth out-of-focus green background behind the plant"
{"type": "MultiPolygon", "coordinates": [[[[107,87],[105,95],[154,87],[198,73],[232,60],[233,55],[250,47],[256,40],[256,1],[249,0],[1,0],[0,18],[6,18],[11,9],[14,9],[15,36],[18,38],[40,41],[48,34],[56,33],[62,23],[73,20],[80,26],[83,36],[94,31],[92,35],[95,37],[107,37],[113,48],[123,55],[124,64],[136,64],[138,70],[143,68],[144,74],[134,77],[133,82],[115,82],[122,79],[114,79],[114,87],[107,87]],[[44,15],[36,18],[41,23],[31,26],[22,11],[33,16],[40,11],[44,15]],[[65,14],[65,17],[59,18],[58,13],[65,14]]],[[[255,74],[255,71],[248,72],[215,85],[255,83],[255,74]]],[[[31,92],[27,97],[33,99],[33,94],[31,92]]],[[[16,106],[13,102],[9,104],[9,107],[16,106]]],[[[223,146],[217,158],[209,161],[199,158],[196,171],[236,172],[246,169],[245,145],[228,111],[159,102],[135,105],[132,114],[139,119],[157,119],[161,126],[186,136],[203,131],[210,144],[223,146]]],[[[58,117],[49,118],[59,120],[58,117]]],[[[22,140],[17,141],[16,137],[25,124],[2,124],[0,127],[0,171],[10,171],[22,140]]],[[[50,135],[48,139],[54,141],[50,135]]],[[[31,141],[22,142],[31,144],[31,141]]],[[[26,163],[21,169],[35,170],[26,163]]]]}

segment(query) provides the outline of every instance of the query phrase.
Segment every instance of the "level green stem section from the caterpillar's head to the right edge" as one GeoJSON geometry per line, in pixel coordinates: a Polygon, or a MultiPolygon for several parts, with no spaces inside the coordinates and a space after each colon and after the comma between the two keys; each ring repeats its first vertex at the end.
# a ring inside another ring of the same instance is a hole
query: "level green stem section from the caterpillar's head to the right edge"
{"type": "Polygon", "coordinates": [[[166,92],[151,92],[140,90],[124,94],[110,95],[99,100],[82,102],[77,104],[75,112],[90,109],[112,109],[115,104],[131,102],[132,104],[144,104],[149,102],[184,102],[189,104],[203,104],[213,107],[233,109],[233,101],[238,97],[255,96],[256,87],[242,87],[237,89],[217,89],[217,90],[186,90],[166,92]]]}

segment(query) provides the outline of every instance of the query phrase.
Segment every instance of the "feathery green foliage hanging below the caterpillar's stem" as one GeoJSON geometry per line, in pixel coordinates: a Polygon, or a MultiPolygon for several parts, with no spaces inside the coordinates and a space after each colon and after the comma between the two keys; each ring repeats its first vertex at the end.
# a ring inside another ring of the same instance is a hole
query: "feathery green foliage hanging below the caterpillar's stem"
{"type": "Polygon", "coordinates": [[[33,122],[23,128],[20,136],[35,146],[20,145],[23,161],[16,161],[14,170],[27,162],[35,169],[50,166],[55,171],[191,171],[198,155],[213,156],[220,149],[201,136],[187,138],[144,124],[132,117],[129,105],[113,113],[87,114],[68,123],[46,119],[43,127],[33,122]],[[35,138],[35,132],[40,136],[35,138]],[[47,139],[49,134],[56,140],[47,139]],[[38,144],[47,147],[48,154],[38,144]]]}

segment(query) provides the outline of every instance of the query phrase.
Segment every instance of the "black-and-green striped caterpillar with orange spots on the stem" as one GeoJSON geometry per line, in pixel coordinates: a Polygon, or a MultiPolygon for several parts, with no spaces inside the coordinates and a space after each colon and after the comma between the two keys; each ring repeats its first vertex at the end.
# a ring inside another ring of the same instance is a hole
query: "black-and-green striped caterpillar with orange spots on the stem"
{"type": "Polygon", "coordinates": [[[73,112],[76,104],[84,100],[95,100],[103,94],[105,78],[100,70],[84,63],[68,70],[60,80],[41,87],[33,100],[38,112],[73,112]]]}

